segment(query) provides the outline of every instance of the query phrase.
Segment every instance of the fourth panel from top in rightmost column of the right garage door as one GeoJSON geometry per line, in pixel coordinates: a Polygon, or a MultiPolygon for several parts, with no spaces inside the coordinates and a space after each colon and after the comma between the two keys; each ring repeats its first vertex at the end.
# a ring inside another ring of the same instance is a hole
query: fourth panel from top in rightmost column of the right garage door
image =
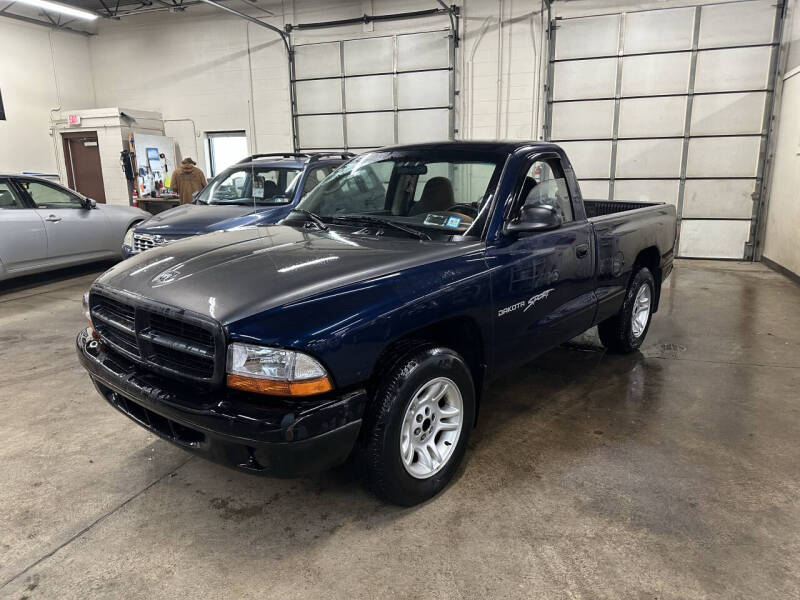
{"type": "Polygon", "coordinates": [[[689,140],[688,177],[755,177],[760,137],[689,140]]]}

